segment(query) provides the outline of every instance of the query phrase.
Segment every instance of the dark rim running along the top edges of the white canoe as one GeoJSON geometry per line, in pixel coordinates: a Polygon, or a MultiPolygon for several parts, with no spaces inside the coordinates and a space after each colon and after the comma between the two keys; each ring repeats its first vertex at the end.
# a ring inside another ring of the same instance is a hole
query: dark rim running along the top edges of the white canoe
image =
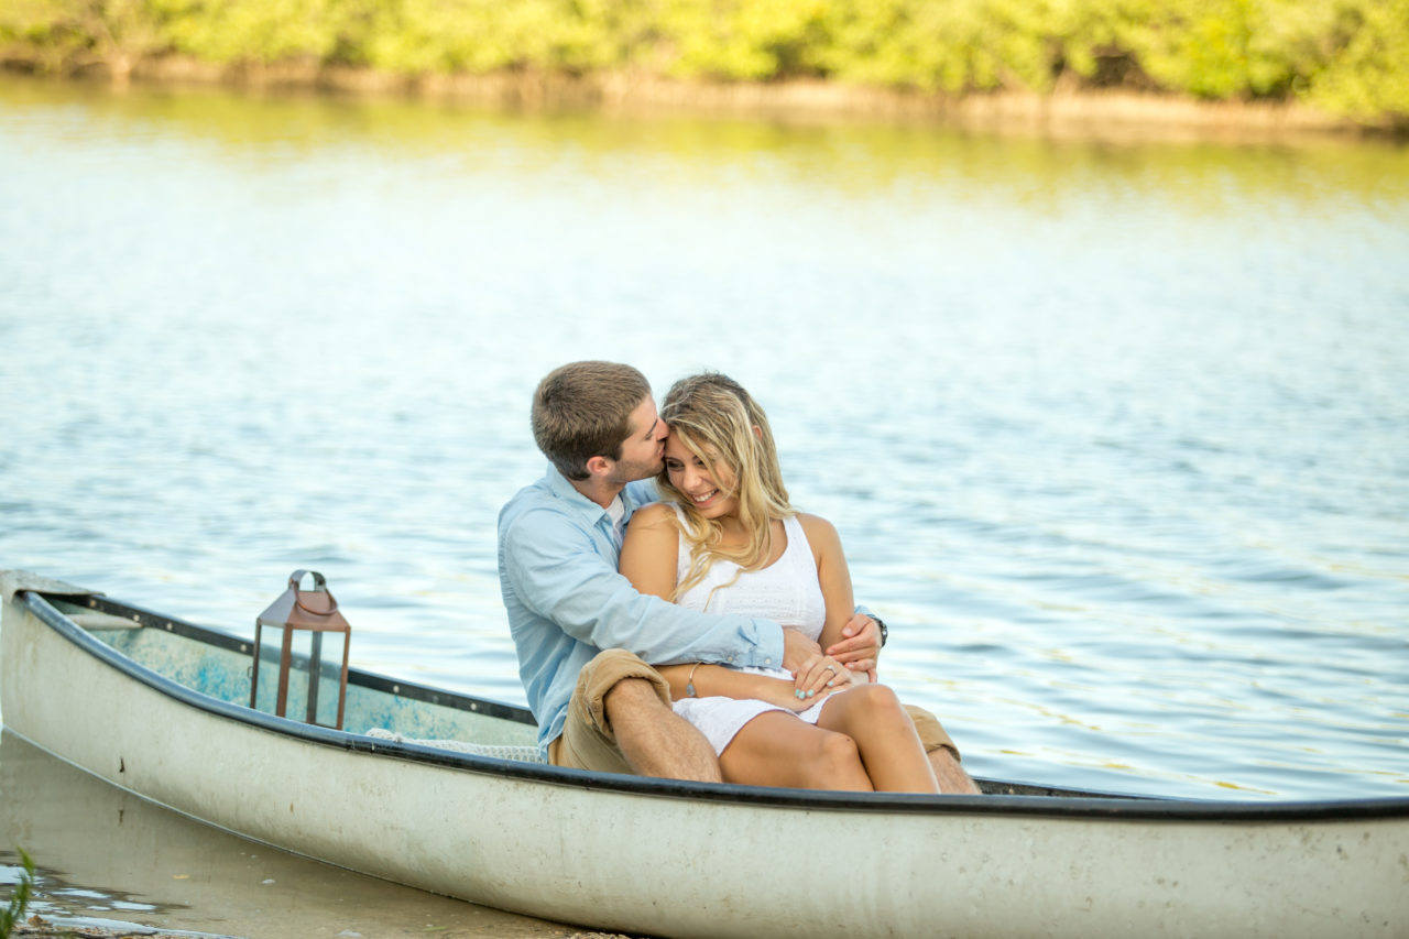
{"type": "MultiPolygon", "coordinates": [[[[86,606],[100,612],[120,616],[141,625],[142,627],[161,629],[176,633],[187,639],[203,642],[211,646],[232,651],[248,651],[251,640],[218,630],[196,626],[180,619],[155,613],[139,606],[118,603],[106,596],[87,595],[55,596],[66,603],[86,606]]],[[[1267,823],[1296,823],[1323,822],[1332,819],[1391,819],[1409,818],[1409,797],[1406,798],[1363,798],[1336,801],[1285,801],[1285,802],[1250,802],[1250,801],[1216,801],[1216,799],[1185,799],[1160,798],[1147,795],[1107,794],[1062,791],[1054,795],[916,795],[890,792],[819,792],[812,790],[782,790],[735,784],[707,784],[688,782],[681,780],[657,780],[613,773],[590,773],[586,770],[571,770],[566,767],[544,766],[534,763],[520,763],[502,760],[473,753],[459,753],[438,747],[421,746],[369,737],[347,730],[334,730],[307,725],[286,718],[278,718],[261,711],[221,701],[199,691],[187,688],[179,682],[161,675],[145,665],[128,658],[111,646],[89,634],[86,629],[75,623],[62,610],[55,608],[49,599],[35,591],[18,591],[14,603],[28,609],[37,619],[54,629],[70,643],[76,644],[87,654],[101,660],[107,665],[118,670],[130,678],[159,691],[200,711],[218,715],[224,719],[252,725],[263,730],[278,733],[285,737],[296,737],[320,746],[331,746],[354,753],[368,753],[395,759],[411,760],[421,764],[441,766],[447,768],[476,773],[483,775],[497,775],[523,781],[535,781],[554,785],[565,785],[581,790],[607,790],[614,792],[647,795],[655,798],[681,798],[713,802],[733,802],[748,805],[775,805],[789,809],[809,811],[844,811],[844,812],[913,812],[913,814],[961,814],[961,815],[1003,815],[1003,816],[1040,816],[1040,818],[1071,818],[1071,819],[1109,819],[1112,822],[1267,822],[1267,823]]],[[[400,681],[349,670],[349,684],[358,684],[371,689],[397,694],[406,698],[427,701],[431,704],[448,705],[476,713],[516,720],[520,723],[534,723],[533,716],[524,708],[517,708],[497,701],[473,698],[457,692],[418,685],[410,681],[400,681]]],[[[45,743],[35,742],[45,747],[45,743]]],[[[45,747],[46,749],[46,747],[45,747]]],[[[1045,787],[1030,784],[1005,784],[979,780],[981,784],[1014,785],[1016,790],[1044,790],[1045,787]]]]}

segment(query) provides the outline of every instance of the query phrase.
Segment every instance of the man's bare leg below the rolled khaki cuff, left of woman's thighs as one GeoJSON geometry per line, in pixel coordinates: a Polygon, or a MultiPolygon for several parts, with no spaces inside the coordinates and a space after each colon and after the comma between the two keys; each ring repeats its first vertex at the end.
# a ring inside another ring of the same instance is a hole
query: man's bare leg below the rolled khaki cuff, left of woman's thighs
{"type": "Polygon", "coordinates": [[[603,699],[621,756],[638,775],[721,782],[714,747],[644,678],[623,678],[603,699]]]}

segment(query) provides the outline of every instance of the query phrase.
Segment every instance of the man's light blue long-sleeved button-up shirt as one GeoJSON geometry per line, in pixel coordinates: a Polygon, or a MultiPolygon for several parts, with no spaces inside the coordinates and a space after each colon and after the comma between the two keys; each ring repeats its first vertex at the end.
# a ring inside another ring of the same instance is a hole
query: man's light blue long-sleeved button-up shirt
{"type": "MultiPolygon", "coordinates": [[[[630,519],[655,501],[655,484],[633,482],[621,499],[630,519]]],[[[562,733],[578,673],[603,649],[626,649],[654,665],[782,664],[778,623],[640,594],[617,574],[619,556],[612,516],[552,465],[499,513],[499,587],[542,749],[562,733]]]]}

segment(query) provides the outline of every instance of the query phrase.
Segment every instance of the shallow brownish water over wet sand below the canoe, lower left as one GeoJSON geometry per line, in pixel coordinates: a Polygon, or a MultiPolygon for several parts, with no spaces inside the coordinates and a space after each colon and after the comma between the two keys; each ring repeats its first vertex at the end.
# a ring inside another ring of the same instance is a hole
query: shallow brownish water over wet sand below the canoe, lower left
{"type": "Polygon", "coordinates": [[[604,936],[249,842],[124,792],[4,732],[0,902],[17,881],[17,846],[37,869],[25,919],[41,919],[15,931],[21,936],[604,936]]]}

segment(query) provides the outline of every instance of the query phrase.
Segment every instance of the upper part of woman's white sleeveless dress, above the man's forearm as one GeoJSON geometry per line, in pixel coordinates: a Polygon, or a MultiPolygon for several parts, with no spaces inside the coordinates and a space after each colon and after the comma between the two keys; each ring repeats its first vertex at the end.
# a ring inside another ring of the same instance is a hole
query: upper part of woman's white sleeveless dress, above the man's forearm
{"type": "MultiPolygon", "coordinates": [[[[672,506],[676,516],[685,509],[672,506]]],[[[771,619],[783,626],[800,626],[807,637],[816,642],[827,622],[827,603],[817,582],[817,560],[802,530],[797,516],[783,519],[783,533],[788,547],[782,557],[759,571],[745,571],[733,584],[738,564],[714,561],[704,579],[688,589],[676,603],[706,613],[738,613],[771,619]],[[728,584],[728,587],[724,587],[728,584]],[[719,589],[714,589],[719,587],[719,589]],[[710,595],[713,591],[713,595],[710,595]]],[[[679,558],[675,563],[675,582],[679,584],[690,570],[690,547],[681,533],[679,558]]]]}

